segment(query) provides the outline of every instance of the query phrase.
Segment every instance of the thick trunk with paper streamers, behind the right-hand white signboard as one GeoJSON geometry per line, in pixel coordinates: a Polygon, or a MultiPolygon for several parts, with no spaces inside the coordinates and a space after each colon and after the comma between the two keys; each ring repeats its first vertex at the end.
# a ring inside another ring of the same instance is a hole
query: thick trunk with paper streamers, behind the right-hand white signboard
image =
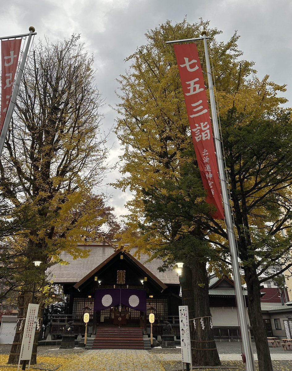
{"type": "Polygon", "coordinates": [[[195,262],[184,265],[181,277],[182,298],[189,307],[189,328],[193,366],[219,366],[221,364],[213,329],[210,327],[209,280],[206,264],[195,262]],[[200,318],[205,328],[202,329],[200,318]],[[195,318],[196,329],[193,324],[195,318]]]}

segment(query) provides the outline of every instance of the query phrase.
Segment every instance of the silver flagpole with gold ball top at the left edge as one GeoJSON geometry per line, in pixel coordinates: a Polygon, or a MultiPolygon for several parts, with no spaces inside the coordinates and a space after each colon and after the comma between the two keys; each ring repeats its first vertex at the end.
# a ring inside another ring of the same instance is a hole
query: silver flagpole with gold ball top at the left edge
{"type": "MultiPolygon", "coordinates": [[[[21,63],[20,63],[19,72],[18,72],[16,81],[15,81],[15,84],[14,84],[12,96],[11,96],[11,99],[10,99],[10,103],[9,103],[9,106],[8,106],[8,109],[7,109],[7,114],[5,116],[3,128],[2,128],[2,131],[1,131],[1,135],[0,135],[0,156],[1,156],[2,151],[3,151],[4,142],[5,142],[5,139],[6,139],[6,135],[7,135],[7,131],[8,131],[8,128],[9,128],[10,121],[11,121],[11,117],[12,117],[12,114],[13,114],[13,110],[14,110],[14,106],[15,106],[15,102],[16,102],[16,97],[17,97],[17,94],[18,94],[19,85],[20,85],[20,81],[21,81],[21,78],[22,78],[22,75],[23,75],[24,65],[25,65],[25,62],[26,62],[27,53],[29,52],[29,45],[30,45],[31,36],[35,35],[35,33],[34,33],[35,29],[34,29],[33,26],[29,27],[29,31],[30,31],[30,33],[28,34],[29,37],[27,39],[26,48],[24,50],[23,57],[22,57],[22,60],[21,60],[21,63]]],[[[20,37],[20,36],[27,36],[27,35],[16,35],[14,37],[20,37]]],[[[6,37],[6,38],[8,39],[8,38],[11,38],[11,37],[13,37],[13,36],[9,36],[9,37],[6,37]]],[[[3,39],[3,37],[1,37],[1,39],[3,39]]]]}

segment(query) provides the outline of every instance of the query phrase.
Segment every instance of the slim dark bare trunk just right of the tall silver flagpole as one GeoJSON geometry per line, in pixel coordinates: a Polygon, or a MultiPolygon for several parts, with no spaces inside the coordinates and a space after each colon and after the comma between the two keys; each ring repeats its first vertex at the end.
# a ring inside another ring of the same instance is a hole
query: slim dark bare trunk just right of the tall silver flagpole
{"type": "Polygon", "coordinates": [[[245,267],[245,278],[248,289],[248,314],[253,329],[253,336],[255,337],[259,371],[273,371],[267,334],[263,324],[260,283],[256,270],[245,267]]]}

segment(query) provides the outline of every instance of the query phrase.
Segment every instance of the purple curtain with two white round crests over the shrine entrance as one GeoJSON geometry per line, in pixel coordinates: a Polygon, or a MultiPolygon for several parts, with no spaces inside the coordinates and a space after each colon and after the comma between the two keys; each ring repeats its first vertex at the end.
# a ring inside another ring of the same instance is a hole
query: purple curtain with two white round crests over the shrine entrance
{"type": "Polygon", "coordinates": [[[146,290],[137,289],[100,289],[95,290],[94,311],[102,311],[119,304],[137,311],[146,312],[146,290]]]}

